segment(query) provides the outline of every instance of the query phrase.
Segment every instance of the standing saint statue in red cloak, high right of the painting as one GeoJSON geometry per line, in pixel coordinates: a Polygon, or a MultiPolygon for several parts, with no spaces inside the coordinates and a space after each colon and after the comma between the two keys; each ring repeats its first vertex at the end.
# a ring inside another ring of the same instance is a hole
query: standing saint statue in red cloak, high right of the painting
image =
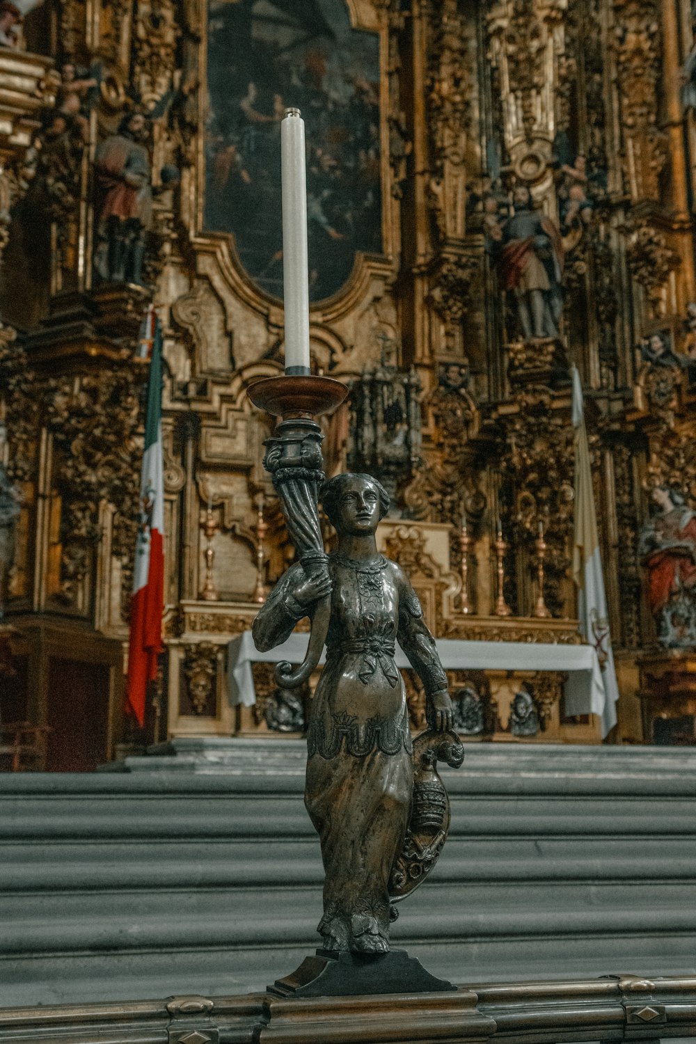
{"type": "Polygon", "coordinates": [[[557,337],[562,311],[560,234],[553,221],[534,210],[526,185],[514,188],[512,207],[500,236],[489,232],[488,248],[498,260],[503,289],[514,302],[524,339],[557,337]]]}

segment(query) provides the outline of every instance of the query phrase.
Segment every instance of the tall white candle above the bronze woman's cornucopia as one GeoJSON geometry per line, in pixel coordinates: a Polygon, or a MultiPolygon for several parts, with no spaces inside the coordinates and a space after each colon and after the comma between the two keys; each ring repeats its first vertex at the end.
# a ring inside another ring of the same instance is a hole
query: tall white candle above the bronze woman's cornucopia
{"type": "Polygon", "coordinates": [[[305,121],[286,109],[281,122],[285,372],[309,374],[309,272],[305,121]]]}

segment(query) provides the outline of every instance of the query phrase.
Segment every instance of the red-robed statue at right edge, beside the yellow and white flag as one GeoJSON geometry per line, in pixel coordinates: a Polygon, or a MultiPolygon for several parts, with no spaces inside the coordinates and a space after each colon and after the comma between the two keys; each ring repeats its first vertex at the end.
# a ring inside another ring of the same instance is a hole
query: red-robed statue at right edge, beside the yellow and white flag
{"type": "Polygon", "coordinates": [[[641,532],[648,604],[667,648],[696,644],[696,513],[677,490],[655,487],[654,515],[641,532]]]}

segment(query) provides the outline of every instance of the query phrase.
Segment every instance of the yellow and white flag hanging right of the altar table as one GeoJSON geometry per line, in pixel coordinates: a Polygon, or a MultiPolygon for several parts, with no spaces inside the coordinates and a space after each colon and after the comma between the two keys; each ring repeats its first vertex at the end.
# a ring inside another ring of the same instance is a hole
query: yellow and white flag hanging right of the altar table
{"type": "Polygon", "coordinates": [[[597,650],[601,668],[603,692],[593,686],[592,707],[573,706],[570,690],[566,696],[567,714],[599,714],[602,718],[602,736],[617,723],[616,703],[619,698],[617,673],[614,667],[611,637],[602,560],[599,553],[599,535],[595,496],[592,488],[590,447],[584,424],[582,385],[577,366],[573,366],[573,427],[575,429],[575,528],[573,533],[573,579],[578,589],[578,618],[582,637],[597,650]]]}

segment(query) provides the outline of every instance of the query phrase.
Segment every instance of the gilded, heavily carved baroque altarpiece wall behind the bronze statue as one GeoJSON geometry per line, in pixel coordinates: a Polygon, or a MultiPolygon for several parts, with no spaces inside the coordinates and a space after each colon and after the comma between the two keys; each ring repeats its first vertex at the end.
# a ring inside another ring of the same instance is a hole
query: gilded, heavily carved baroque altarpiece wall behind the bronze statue
{"type": "MultiPolygon", "coordinates": [[[[261,467],[270,422],[245,393],[282,369],[273,157],[282,108],[301,104],[312,361],[354,388],[326,424],[329,472],[359,466],[390,490],[383,546],[440,637],[576,641],[575,362],[619,733],[643,739],[645,650],[672,663],[696,642],[687,591],[661,645],[641,536],[654,488],[696,506],[689,4],[52,0],[25,41],[0,50],[14,91],[0,91],[0,370],[20,503],[5,597],[17,715],[57,729],[63,656],[99,688],[104,757],[121,735],[153,302],[167,609],[148,738],[301,731],[302,709],[268,712],[262,671],[254,711],[230,708],[224,683],[226,641],[292,553],[261,467]],[[125,234],[99,195],[124,126],[149,193],[125,234]]],[[[455,681],[462,720],[494,714],[490,678],[455,681]]],[[[526,681],[498,680],[507,710],[471,734],[537,735],[524,721],[555,715],[556,738],[597,738],[562,723],[562,680],[526,681]]]]}

